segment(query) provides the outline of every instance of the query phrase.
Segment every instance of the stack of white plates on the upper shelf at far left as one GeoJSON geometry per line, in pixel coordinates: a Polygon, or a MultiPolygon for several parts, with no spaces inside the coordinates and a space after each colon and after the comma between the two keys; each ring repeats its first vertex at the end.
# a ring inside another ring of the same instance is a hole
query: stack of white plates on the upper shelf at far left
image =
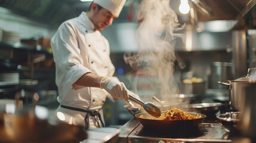
{"type": "Polygon", "coordinates": [[[20,42],[20,32],[3,31],[2,42],[20,42]]]}

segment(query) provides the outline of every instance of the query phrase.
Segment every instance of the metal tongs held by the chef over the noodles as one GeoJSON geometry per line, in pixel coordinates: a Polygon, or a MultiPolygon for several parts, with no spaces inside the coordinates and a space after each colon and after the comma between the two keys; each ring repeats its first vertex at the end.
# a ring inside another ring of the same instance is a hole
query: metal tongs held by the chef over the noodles
{"type": "Polygon", "coordinates": [[[133,97],[132,95],[129,95],[129,100],[141,105],[144,110],[149,113],[153,117],[160,117],[161,116],[161,110],[153,104],[152,102],[143,102],[141,100],[138,100],[137,98],[133,97]]]}

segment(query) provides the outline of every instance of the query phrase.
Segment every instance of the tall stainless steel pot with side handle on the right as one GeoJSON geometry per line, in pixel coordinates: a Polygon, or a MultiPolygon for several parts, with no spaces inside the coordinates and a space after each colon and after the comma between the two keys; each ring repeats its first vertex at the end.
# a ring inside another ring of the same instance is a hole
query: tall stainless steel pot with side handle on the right
{"type": "MultiPolygon", "coordinates": [[[[246,87],[249,86],[249,73],[251,70],[256,68],[248,69],[248,74],[246,77],[240,77],[236,80],[227,80],[227,82],[218,82],[221,85],[226,85],[229,89],[229,104],[233,110],[240,110],[243,106],[244,97],[246,95],[246,87]]],[[[256,88],[256,86],[255,86],[256,88]]]]}

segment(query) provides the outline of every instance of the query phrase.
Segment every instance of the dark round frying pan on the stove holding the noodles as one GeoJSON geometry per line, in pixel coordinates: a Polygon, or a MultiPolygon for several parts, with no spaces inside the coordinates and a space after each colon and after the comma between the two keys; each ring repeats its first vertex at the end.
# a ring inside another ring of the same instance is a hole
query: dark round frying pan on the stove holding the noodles
{"type": "MultiPolygon", "coordinates": [[[[165,112],[162,112],[164,114],[165,112]]],[[[192,116],[202,116],[201,119],[193,119],[193,120],[157,120],[156,118],[150,119],[152,116],[150,116],[148,113],[140,113],[136,114],[135,117],[138,120],[138,122],[141,123],[141,125],[144,128],[150,128],[150,129],[159,129],[159,130],[171,130],[176,128],[198,128],[198,126],[205,120],[204,114],[198,114],[198,113],[189,113],[192,116]],[[143,115],[144,118],[141,118],[140,116],[143,115]]]]}

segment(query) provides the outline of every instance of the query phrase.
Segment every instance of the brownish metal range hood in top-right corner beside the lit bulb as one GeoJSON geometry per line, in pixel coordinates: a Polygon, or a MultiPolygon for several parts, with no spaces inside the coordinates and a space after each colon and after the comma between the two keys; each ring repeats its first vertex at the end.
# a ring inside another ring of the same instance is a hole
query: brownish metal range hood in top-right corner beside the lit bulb
{"type": "Polygon", "coordinates": [[[193,0],[191,23],[236,20],[230,30],[256,29],[255,0],[193,0]]]}

